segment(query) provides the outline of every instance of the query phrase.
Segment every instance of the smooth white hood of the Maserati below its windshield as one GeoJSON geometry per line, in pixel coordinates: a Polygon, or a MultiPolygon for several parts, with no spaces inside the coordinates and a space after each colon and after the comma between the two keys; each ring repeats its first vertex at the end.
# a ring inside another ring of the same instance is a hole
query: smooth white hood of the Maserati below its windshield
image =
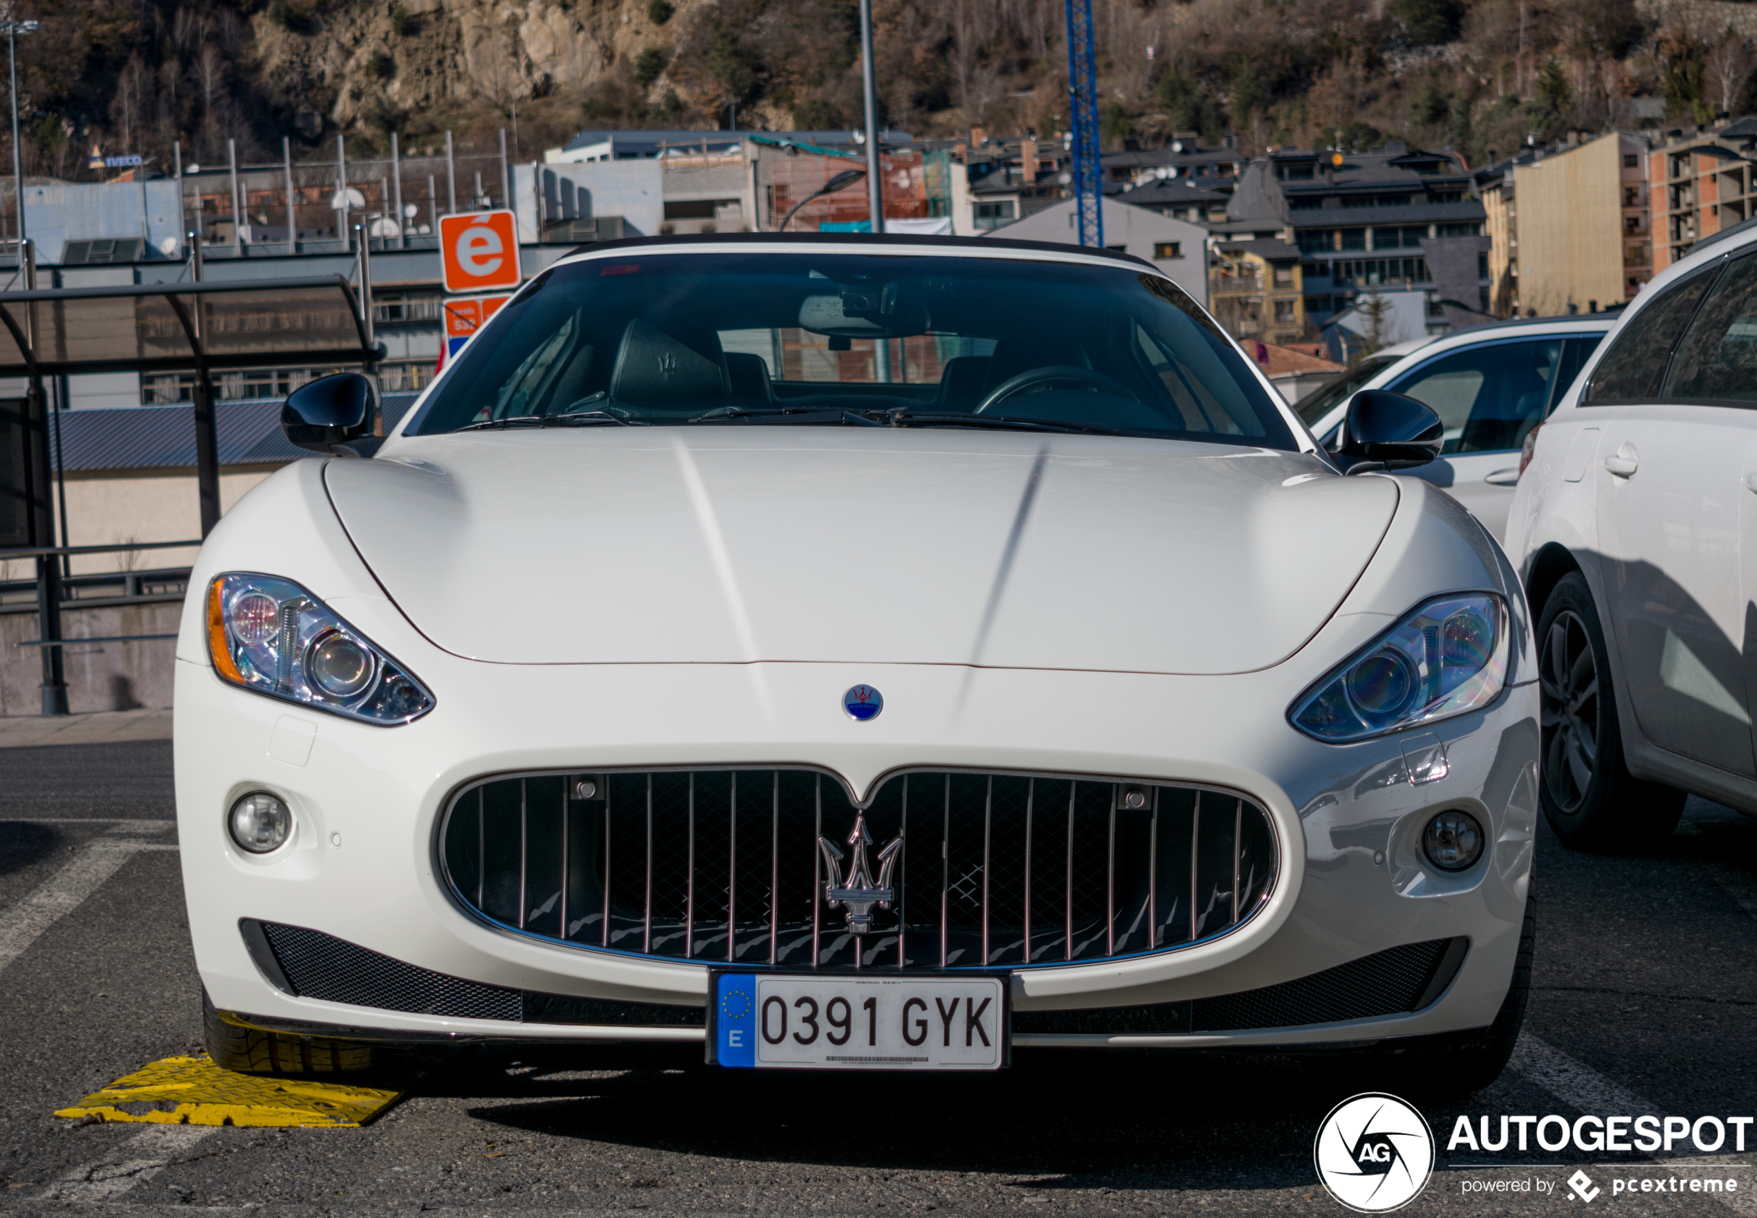
{"type": "Polygon", "coordinates": [[[471,659],[1151,673],[1291,656],[1399,496],[1262,448],[734,425],[404,439],[325,482],[471,659]]]}

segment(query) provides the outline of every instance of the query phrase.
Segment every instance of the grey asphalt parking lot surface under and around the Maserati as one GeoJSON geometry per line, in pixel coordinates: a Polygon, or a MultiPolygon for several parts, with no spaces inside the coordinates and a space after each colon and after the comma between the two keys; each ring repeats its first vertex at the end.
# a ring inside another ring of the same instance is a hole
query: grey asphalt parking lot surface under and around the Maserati
{"type": "MultiPolygon", "coordinates": [[[[1490,1090],[1416,1100],[1439,1158],[1400,1213],[1757,1216],[1745,1153],[1448,1151],[1460,1114],[1752,1114],[1757,821],[1690,800],[1667,847],[1544,837],[1525,1039],[1490,1090]],[[1585,1172],[1594,1200],[1569,1178],[1585,1172]],[[1736,1181],[1692,1193],[1688,1181],[1736,1181]],[[1613,1192],[1615,1181],[1666,1192],[1613,1192]],[[1680,1179],[1673,1192],[1666,1181],[1680,1179]]],[[[200,1053],[170,743],[0,749],[0,1209],[919,1214],[1344,1213],[1312,1169],[1362,1086],[1286,1063],[1016,1053],[994,1077],[748,1079],[699,1049],[411,1065],[364,1128],[77,1125],[53,1111],[200,1053]]],[[[1729,1142],[1731,1144],[1731,1142],[1729,1142]]]]}

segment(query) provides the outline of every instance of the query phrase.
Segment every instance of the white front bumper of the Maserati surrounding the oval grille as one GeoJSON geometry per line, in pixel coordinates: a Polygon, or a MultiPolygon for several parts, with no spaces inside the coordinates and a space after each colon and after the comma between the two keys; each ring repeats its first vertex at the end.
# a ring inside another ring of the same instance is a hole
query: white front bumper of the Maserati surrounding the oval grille
{"type": "MultiPolygon", "coordinates": [[[[176,780],[190,926],[216,1007],[265,1026],[362,1035],[536,1040],[699,1039],[692,1026],[464,1019],[283,993],[253,963],[241,919],[311,928],[418,968],[538,995],[701,1007],[708,970],[562,947],[467,916],[436,868],[450,794],[485,773],[620,766],[813,765],[864,793],[903,766],[1005,768],[1202,782],[1249,794],[1279,837],[1263,910],[1233,933],[1132,960],[1012,974],[1021,1014],[1233,995],[1427,940],[1467,939],[1444,993],[1420,1011],[1228,1032],[1030,1033],[1017,1044],[1323,1044],[1486,1026],[1518,949],[1536,826],[1536,687],[1427,731],[1450,772],[1407,780],[1402,740],[1321,745],[1284,707],[1318,671],[1300,657],[1230,677],[1149,677],[873,664],[511,666],[434,649],[380,598],[336,605],[439,698],[402,728],[350,722],[223,685],[183,650],[176,780]],[[856,722],[840,692],[886,692],[856,722]],[[293,840],[237,851],[225,810],[248,791],[288,801],[293,840]],[[1488,828],[1462,875],[1427,866],[1420,830],[1442,807],[1488,828]]],[[[1342,615],[1309,656],[1348,654],[1383,620],[1342,615]]]]}

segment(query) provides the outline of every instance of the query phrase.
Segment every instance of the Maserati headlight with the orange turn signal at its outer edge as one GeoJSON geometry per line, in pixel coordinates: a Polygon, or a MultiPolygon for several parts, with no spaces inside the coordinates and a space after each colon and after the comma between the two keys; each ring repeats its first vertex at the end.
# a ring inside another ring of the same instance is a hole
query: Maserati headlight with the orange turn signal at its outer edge
{"type": "Polygon", "coordinates": [[[292,580],[221,575],[207,587],[207,654],[223,680],[350,719],[397,724],[434,696],[292,580]]]}

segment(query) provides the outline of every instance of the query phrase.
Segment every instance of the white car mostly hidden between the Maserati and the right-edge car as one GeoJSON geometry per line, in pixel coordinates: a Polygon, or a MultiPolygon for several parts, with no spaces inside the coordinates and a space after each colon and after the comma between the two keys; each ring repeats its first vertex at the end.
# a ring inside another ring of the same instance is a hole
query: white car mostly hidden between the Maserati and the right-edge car
{"type": "Polygon", "coordinates": [[[1332,452],[1356,388],[1388,388],[1434,408],[1446,443],[1439,460],[1414,476],[1444,487],[1502,540],[1525,438],[1562,401],[1615,322],[1609,313],[1543,316],[1399,344],[1320,385],[1295,408],[1332,452]]]}

